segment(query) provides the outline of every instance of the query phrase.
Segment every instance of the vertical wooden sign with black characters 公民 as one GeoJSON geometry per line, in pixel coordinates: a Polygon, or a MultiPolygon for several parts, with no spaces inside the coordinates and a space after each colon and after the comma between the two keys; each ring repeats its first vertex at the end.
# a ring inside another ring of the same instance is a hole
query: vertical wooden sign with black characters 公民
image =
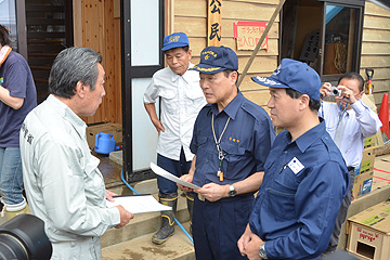
{"type": "Polygon", "coordinates": [[[207,46],[221,46],[222,0],[208,1],[207,46]]]}

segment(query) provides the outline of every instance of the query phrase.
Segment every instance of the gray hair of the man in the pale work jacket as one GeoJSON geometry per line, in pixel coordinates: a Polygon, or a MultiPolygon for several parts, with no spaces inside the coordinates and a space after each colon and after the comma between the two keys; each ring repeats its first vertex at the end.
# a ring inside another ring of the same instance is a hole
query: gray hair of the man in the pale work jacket
{"type": "Polygon", "coordinates": [[[78,81],[94,90],[101,62],[102,55],[89,48],[72,47],[61,51],[50,70],[49,93],[70,99],[76,94],[78,81]]]}

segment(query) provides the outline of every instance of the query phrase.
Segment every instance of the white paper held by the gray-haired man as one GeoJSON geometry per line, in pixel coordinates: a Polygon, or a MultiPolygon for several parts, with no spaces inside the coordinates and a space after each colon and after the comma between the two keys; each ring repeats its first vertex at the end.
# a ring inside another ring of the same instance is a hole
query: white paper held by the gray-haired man
{"type": "Polygon", "coordinates": [[[106,200],[107,207],[121,205],[131,213],[145,213],[162,210],[171,210],[169,206],[159,204],[152,195],[133,195],[114,197],[114,203],[106,200]]]}

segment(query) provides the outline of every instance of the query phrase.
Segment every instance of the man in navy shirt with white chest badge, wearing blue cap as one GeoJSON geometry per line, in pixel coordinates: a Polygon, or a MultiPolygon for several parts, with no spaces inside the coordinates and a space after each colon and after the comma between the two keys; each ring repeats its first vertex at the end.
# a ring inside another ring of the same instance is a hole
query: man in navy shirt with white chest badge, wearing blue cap
{"type": "Polygon", "coordinates": [[[317,116],[320,77],[307,64],[284,58],[271,77],[252,80],[270,87],[273,125],[286,130],[265,161],[238,248],[249,259],[318,259],[349,186],[342,155],[317,116]]]}

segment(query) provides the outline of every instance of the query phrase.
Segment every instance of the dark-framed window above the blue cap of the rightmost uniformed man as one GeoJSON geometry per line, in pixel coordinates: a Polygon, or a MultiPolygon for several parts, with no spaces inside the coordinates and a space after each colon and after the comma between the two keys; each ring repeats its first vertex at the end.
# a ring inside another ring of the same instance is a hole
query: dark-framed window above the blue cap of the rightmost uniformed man
{"type": "Polygon", "coordinates": [[[308,63],[323,81],[359,72],[364,1],[286,0],[281,58],[308,63]]]}

